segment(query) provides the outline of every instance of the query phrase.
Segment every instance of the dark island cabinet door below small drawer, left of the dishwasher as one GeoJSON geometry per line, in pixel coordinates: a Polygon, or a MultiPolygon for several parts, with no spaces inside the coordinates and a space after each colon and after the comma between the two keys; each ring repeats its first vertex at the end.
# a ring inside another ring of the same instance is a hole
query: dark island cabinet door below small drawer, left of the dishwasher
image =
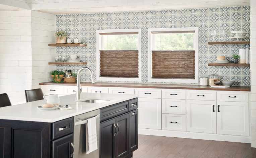
{"type": "Polygon", "coordinates": [[[70,158],[73,157],[73,134],[52,141],[52,157],[70,158]],[[72,144],[71,144],[72,143],[72,144]]]}

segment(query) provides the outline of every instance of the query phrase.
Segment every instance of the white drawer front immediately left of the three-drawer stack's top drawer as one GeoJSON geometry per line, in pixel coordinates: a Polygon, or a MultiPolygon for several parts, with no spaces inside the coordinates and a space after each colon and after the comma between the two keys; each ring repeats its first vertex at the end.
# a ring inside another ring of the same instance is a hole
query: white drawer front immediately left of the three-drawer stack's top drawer
{"type": "Polygon", "coordinates": [[[161,98],[161,90],[157,89],[135,89],[135,94],[139,95],[139,98],[161,98]]]}

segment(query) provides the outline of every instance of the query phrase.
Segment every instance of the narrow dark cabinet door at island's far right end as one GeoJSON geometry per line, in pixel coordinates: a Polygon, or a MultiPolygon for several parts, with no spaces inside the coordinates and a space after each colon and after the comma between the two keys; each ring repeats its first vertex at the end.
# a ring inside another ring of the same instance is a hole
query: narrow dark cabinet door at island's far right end
{"type": "Polygon", "coordinates": [[[129,113],[129,152],[138,149],[138,110],[129,113]]]}

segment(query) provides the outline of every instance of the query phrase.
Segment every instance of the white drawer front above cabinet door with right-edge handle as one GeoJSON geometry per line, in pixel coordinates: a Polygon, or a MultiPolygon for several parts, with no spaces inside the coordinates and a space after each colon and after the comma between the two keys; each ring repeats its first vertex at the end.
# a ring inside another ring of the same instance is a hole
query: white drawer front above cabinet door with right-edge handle
{"type": "Polygon", "coordinates": [[[207,100],[207,101],[215,101],[216,100],[216,92],[215,91],[187,91],[187,99],[188,100],[207,100]]]}

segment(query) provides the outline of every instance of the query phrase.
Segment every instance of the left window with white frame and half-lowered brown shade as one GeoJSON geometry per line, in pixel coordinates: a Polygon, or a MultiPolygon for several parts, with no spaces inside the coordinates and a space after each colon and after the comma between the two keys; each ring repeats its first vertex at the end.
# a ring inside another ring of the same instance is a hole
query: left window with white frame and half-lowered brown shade
{"type": "Polygon", "coordinates": [[[141,81],[140,32],[97,30],[98,81],[141,81]]]}

